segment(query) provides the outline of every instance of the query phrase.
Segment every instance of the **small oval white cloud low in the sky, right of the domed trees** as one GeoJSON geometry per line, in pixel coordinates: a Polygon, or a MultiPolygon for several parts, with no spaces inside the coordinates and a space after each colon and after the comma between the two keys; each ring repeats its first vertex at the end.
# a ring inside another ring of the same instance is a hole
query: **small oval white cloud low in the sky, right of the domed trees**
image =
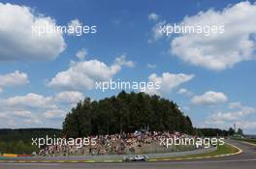
{"type": "Polygon", "coordinates": [[[193,104],[217,104],[227,101],[228,98],[223,93],[208,91],[201,96],[194,96],[191,101],[193,104]]]}

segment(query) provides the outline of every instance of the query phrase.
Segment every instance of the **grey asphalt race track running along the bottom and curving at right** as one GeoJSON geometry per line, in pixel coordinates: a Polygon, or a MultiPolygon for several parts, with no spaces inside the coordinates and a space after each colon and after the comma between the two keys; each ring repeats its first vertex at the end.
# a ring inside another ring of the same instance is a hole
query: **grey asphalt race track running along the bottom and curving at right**
{"type": "Polygon", "coordinates": [[[229,141],[242,150],[240,155],[206,159],[134,163],[0,163],[0,169],[255,169],[256,147],[229,141]]]}

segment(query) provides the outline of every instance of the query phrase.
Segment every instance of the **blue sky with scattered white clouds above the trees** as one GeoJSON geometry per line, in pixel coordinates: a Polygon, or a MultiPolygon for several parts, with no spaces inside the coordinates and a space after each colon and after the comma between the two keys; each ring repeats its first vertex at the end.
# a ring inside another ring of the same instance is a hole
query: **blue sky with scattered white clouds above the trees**
{"type": "Polygon", "coordinates": [[[117,95],[95,88],[112,79],[158,82],[145,92],[174,100],[195,127],[255,134],[255,17],[254,1],[1,0],[0,128],[61,128],[78,101],[117,95]],[[43,23],[91,32],[33,35],[43,23]],[[159,30],[174,24],[225,32],[159,30]]]}

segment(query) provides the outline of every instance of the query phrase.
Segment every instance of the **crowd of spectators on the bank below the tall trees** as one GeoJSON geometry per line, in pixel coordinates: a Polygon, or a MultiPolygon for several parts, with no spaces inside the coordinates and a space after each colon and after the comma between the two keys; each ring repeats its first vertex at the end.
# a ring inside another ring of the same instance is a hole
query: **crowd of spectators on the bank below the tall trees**
{"type": "MultiPolygon", "coordinates": [[[[45,146],[40,150],[39,155],[55,156],[55,155],[134,155],[146,153],[150,150],[161,149],[161,138],[170,137],[186,137],[186,134],[179,132],[160,132],[137,130],[133,133],[121,133],[111,135],[98,135],[96,144],[82,146],[78,148],[76,145],[51,145],[45,146]]],[[[91,136],[95,137],[95,136],[91,136]]]]}

